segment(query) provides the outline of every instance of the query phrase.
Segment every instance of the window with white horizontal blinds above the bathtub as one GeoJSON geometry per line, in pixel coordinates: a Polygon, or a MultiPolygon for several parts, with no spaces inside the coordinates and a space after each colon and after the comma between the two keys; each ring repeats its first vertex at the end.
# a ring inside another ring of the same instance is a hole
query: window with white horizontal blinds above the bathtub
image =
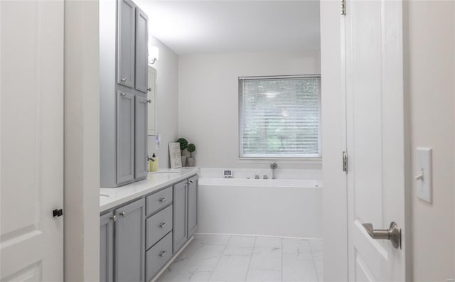
{"type": "Polygon", "coordinates": [[[239,77],[240,158],[321,158],[321,76],[239,77]]]}

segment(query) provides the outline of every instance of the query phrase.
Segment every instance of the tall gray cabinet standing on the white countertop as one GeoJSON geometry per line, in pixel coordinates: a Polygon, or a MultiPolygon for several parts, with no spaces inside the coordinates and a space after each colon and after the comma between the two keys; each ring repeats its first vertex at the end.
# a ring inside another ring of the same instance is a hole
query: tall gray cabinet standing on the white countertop
{"type": "Polygon", "coordinates": [[[100,181],[147,176],[148,18],[130,0],[100,1],[100,181]]]}

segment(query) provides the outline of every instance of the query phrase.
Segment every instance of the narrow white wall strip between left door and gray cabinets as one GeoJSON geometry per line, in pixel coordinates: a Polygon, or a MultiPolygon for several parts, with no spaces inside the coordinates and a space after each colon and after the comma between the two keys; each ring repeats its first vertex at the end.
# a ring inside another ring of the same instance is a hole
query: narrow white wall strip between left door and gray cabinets
{"type": "Polygon", "coordinates": [[[65,281],[100,279],[98,7],[65,1],[65,281]]]}

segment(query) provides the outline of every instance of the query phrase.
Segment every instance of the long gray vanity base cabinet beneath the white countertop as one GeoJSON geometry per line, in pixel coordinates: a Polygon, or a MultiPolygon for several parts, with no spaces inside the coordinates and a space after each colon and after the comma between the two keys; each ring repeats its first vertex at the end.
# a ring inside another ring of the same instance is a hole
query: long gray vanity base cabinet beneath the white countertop
{"type": "Polygon", "coordinates": [[[151,281],[198,226],[198,175],[105,210],[100,281],[151,281]]]}

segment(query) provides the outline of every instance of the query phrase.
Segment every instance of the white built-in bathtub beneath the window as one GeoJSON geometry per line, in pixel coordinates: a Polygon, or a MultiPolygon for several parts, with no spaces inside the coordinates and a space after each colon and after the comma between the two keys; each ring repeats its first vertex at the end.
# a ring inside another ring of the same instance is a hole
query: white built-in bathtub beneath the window
{"type": "Polygon", "coordinates": [[[199,178],[198,233],[322,238],[322,182],[199,178]]]}

